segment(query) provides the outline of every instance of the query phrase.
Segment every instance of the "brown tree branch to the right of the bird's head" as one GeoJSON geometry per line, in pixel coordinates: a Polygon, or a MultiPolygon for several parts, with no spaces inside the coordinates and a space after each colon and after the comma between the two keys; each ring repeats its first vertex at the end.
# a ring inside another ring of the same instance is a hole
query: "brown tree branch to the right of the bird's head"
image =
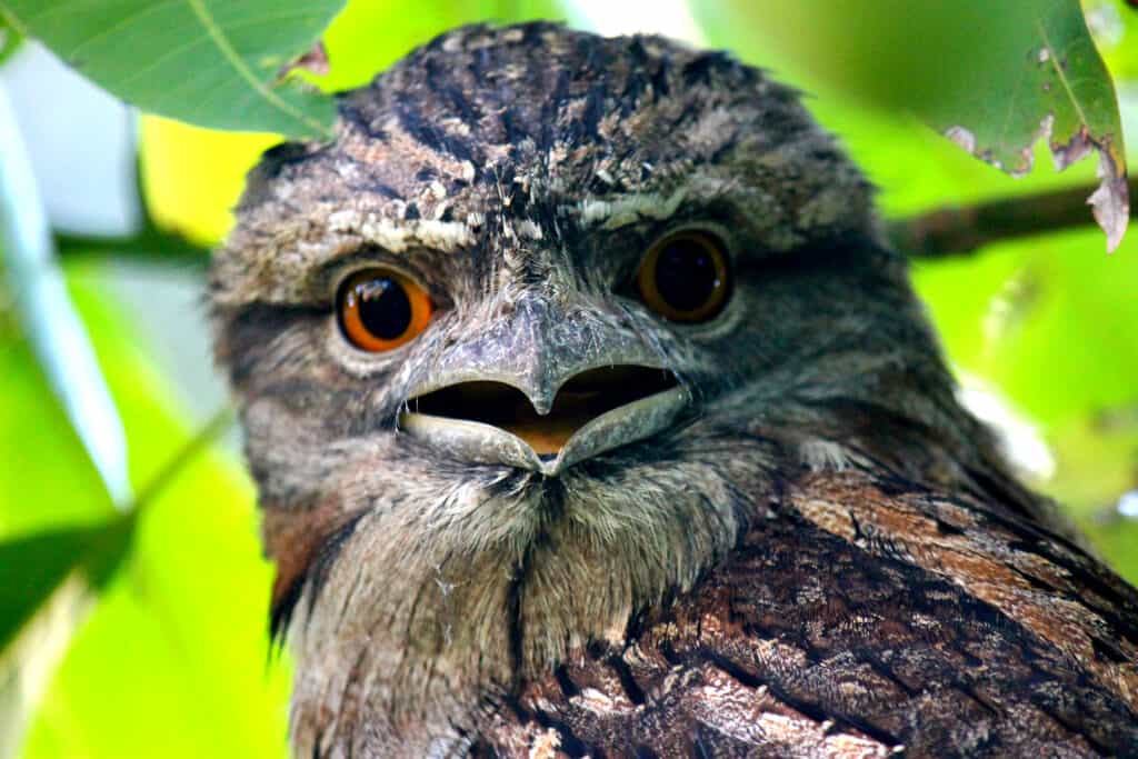
{"type": "MultiPolygon", "coordinates": [[[[1129,182],[1138,199],[1138,179],[1129,182]]],[[[991,242],[1086,226],[1095,222],[1087,198],[1095,187],[988,200],[974,206],[945,206],[890,222],[889,238],[913,258],[940,258],[974,253],[991,242]]],[[[1138,209],[1130,208],[1131,218],[1138,209]]]]}

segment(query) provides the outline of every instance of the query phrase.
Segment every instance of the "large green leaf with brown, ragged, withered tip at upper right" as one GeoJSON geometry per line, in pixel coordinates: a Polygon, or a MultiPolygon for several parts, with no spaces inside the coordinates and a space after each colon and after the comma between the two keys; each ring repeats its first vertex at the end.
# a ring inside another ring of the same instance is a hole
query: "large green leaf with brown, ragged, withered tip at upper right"
{"type": "Polygon", "coordinates": [[[807,89],[915,113],[1008,173],[1031,170],[1039,138],[1059,168],[1099,150],[1091,203],[1110,248],[1121,241],[1122,129],[1078,0],[724,0],[693,9],[716,42],[781,56],[807,89]]]}

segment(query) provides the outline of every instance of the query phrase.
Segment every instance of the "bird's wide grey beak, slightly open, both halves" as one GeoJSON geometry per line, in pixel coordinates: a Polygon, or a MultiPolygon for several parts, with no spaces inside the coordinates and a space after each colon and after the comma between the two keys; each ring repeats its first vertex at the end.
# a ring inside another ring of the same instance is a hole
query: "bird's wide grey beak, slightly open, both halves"
{"type": "Polygon", "coordinates": [[[470,462],[555,476],[676,422],[691,402],[642,340],[545,298],[440,357],[399,428],[470,462]]]}

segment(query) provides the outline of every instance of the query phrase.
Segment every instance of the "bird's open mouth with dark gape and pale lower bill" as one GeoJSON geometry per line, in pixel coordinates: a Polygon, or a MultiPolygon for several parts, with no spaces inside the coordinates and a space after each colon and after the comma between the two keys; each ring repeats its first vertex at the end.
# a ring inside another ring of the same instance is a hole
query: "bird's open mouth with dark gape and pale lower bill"
{"type": "Polygon", "coordinates": [[[475,380],[413,397],[399,421],[412,435],[462,457],[556,473],[659,431],[686,402],[670,371],[618,365],[570,378],[547,413],[538,413],[510,385],[475,380]]]}

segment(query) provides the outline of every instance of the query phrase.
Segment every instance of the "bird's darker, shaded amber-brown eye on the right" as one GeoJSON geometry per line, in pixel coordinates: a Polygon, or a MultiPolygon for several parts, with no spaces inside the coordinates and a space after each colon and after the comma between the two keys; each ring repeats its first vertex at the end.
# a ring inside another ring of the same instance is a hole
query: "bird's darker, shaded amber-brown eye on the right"
{"type": "Polygon", "coordinates": [[[723,244],[694,230],[658,240],[636,272],[648,306],[675,322],[703,322],[718,314],[731,294],[731,271],[723,244]]]}

